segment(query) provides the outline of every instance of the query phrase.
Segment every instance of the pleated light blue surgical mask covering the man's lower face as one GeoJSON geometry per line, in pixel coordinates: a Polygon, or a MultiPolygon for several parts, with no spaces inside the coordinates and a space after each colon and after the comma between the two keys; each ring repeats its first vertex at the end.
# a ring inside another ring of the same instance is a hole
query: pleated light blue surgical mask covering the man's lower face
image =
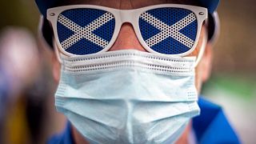
{"type": "Polygon", "coordinates": [[[200,113],[194,61],[138,50],[62,56],[55,105],[91,143],[172,143],[200,113]]]}

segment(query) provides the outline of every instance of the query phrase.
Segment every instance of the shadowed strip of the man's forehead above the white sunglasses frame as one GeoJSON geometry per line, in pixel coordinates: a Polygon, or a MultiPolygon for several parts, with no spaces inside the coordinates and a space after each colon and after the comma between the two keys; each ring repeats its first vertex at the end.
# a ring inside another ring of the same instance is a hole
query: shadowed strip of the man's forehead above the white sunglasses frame
{"type": "Polygon", "coordinates": [[[62,0],[58,2],[57,6],[84,4],[107,6],[115,9],[136,9],[165,3],[199,6],[198,0],[62,0]]]}

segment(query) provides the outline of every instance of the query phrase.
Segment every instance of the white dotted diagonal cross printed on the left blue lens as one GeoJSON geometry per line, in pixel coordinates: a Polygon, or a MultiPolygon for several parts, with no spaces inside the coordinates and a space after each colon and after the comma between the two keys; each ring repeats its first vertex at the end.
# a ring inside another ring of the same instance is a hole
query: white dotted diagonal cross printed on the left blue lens
{"type": "Polygon", "coordinates": [[[106,47],[109,42],[105,39],[98,37],[96,34],[93,34],[94,30],[97,30],[99,27],[103,26],[106,22],[109,22],[113,19],[114,16],[110,13],[105,13],[101,17],[95,19],[93,22],[90,22],[89,25],[82,27],[78,26],[75,22],[72,22],[69,18],[66,18],[64,15],[60,14],[58,22],[63,26],[66,26],[68,29],[74,31],[74,34],[67,38],[61,43],[64,50],[74,45],[82,38],[86,38],[88,41],[93,42],[94,44],[101,46],[102,48],[106,47]]]}

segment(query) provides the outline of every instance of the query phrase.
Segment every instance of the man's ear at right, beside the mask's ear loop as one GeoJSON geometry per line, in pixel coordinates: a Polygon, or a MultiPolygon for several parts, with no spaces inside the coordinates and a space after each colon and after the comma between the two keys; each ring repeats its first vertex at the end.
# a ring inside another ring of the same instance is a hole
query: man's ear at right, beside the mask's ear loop
{"type": "Polygon", "coordinates": [[[205,52],[202,56],[201,62],[199,63],[202,72],[202,82],[206,82],[210,78],[212,68],[213,49],[210,42],[207,42],[205,52]]]}

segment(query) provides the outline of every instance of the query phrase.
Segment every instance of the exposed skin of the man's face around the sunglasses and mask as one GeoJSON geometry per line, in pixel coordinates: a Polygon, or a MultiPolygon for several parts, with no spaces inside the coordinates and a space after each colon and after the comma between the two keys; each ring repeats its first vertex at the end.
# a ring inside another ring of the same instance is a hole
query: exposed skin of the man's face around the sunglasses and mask
{"type": "MultiPolygon", "coordinates": [[[[152,6],[158,4],[165,3],[175,3],[175,4],[186,4],[186,5],[194,5],[197,6],[197,1],[190,0],[65,0],[62,1],[61,5],[74,5],[74,4],[89,4],[89,5],[97,5],[97,6],[107,6],[110,8],[120,9],[120,10],[130,10],[141,8],[145,6],[152,6]]],[[[206,30],[206,26],[202,26],[200,38],[198,41],[198,45],[194,49],[194,51],[188,56],[198,56],[199,50],[202,46],[202,39],[206,38],[204,31],[206,30]]],[[[201,62],[199,62],[196,67],[196,87],[198,92],[200,92],[202,82],[206,81],[208,75],[210,73],[210,56],[211,51],[209,47],[210,45],[206,45],[205,54],[202,57],[201,62]]],[[[126,49],[134,49],[146,51],[146,49],[140,44],[136,34],[134,32],[134,28],[130,23],[124,23],[121,27],[121,30],[118,34],[118,38],[114,42],[114,45],[111,46],[111,50],[126,50],[126,49]]],[[[57,72],[55,72],[55,78],[58,81],[59,79],[59,66],[57,68],[57,72]]],[[[56,69],[55,69],[56,71],[56,69]]]]}

